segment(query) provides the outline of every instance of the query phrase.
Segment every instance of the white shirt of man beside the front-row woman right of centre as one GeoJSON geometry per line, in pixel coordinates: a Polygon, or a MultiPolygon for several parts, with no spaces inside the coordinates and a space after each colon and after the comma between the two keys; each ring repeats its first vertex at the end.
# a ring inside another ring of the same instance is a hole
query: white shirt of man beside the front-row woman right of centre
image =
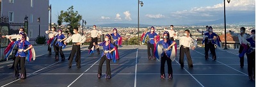
{"type": "Polygon", "coordinates": [[[191,38],[190,36],[187,37],[187,36],[181,36],[179,38],[180,40],[180,45],[183,45],[185,47],[195,47],[196,45],[194,44],[195,43],[195,40],[193,38],[191,38]]]}

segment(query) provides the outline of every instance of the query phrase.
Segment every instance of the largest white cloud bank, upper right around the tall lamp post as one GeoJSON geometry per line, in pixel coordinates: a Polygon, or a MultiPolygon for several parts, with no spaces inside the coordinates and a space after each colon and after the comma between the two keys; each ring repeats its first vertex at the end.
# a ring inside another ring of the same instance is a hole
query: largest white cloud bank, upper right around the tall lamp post
{"type": "MultiPolygon", "coordinates": [[[[190,10],[182,10],[170,13],[170,17],[175,20],[195,22],[195,20],[218,20],[223,19],[224,2],[205,7],[193,7],[190,10]]],[[[236,15],[238,13],[255,13],[255,0],[231,0],[225,3],[226,15],[236,15]]]]}

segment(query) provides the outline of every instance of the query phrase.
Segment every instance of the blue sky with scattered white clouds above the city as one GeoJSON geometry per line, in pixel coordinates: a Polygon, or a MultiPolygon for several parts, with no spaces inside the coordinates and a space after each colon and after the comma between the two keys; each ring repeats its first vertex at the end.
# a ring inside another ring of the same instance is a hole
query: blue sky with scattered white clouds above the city
{"type": "MultiPolygon", "coordinates": [[[[140,24],[168,26],[195,24],[223,19],[223,0],[142,0],[140,24]]],[[[93,24],[138,24],[137,0],[49,0],[52,22],[57,22],[61,10],[74,6],[86,20],[93,24]]],[[[255,0],[226,1],[226,16],[255,14],[255,0]]],[[[65,24],[65,23],[64,23],[65,24]]]]}

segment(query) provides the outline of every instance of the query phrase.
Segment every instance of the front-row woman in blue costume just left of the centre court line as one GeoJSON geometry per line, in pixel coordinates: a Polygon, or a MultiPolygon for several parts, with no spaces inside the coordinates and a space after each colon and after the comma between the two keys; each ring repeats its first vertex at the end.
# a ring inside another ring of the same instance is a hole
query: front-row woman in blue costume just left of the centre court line
{"type": "Polygon", "coordinates": [[[106,79],[111,79],[111,68],[110,68],[110,60],[113,59],[113,62],[116,62],[118,59],[118,51],[117,48],[110,43],[111,37],[110,35],[106,35],[105,41],[99,43],[99,46],[103,47],[103,51],[100,58],[99,68],[98,68],[98,78],[100,79],[102,75],[102,65],[106,60],[106,79]],[[111,54],[113,52],[113,54],[111,54]]]}

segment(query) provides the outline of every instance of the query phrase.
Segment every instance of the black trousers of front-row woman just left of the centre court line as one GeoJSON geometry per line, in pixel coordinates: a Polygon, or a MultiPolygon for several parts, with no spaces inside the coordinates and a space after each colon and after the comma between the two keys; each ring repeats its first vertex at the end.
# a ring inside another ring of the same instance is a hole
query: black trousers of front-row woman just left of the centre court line
{"type": "Polygon", "coordinates": [[[106,55],[102,56],[100,58],[99,68],[98,68],[98,74],[102,74],[102,65],[104,61],[106,60],[106,76],[111,77],[111,69],[110,69],[110,59],[106,57],[106,55]]]}

